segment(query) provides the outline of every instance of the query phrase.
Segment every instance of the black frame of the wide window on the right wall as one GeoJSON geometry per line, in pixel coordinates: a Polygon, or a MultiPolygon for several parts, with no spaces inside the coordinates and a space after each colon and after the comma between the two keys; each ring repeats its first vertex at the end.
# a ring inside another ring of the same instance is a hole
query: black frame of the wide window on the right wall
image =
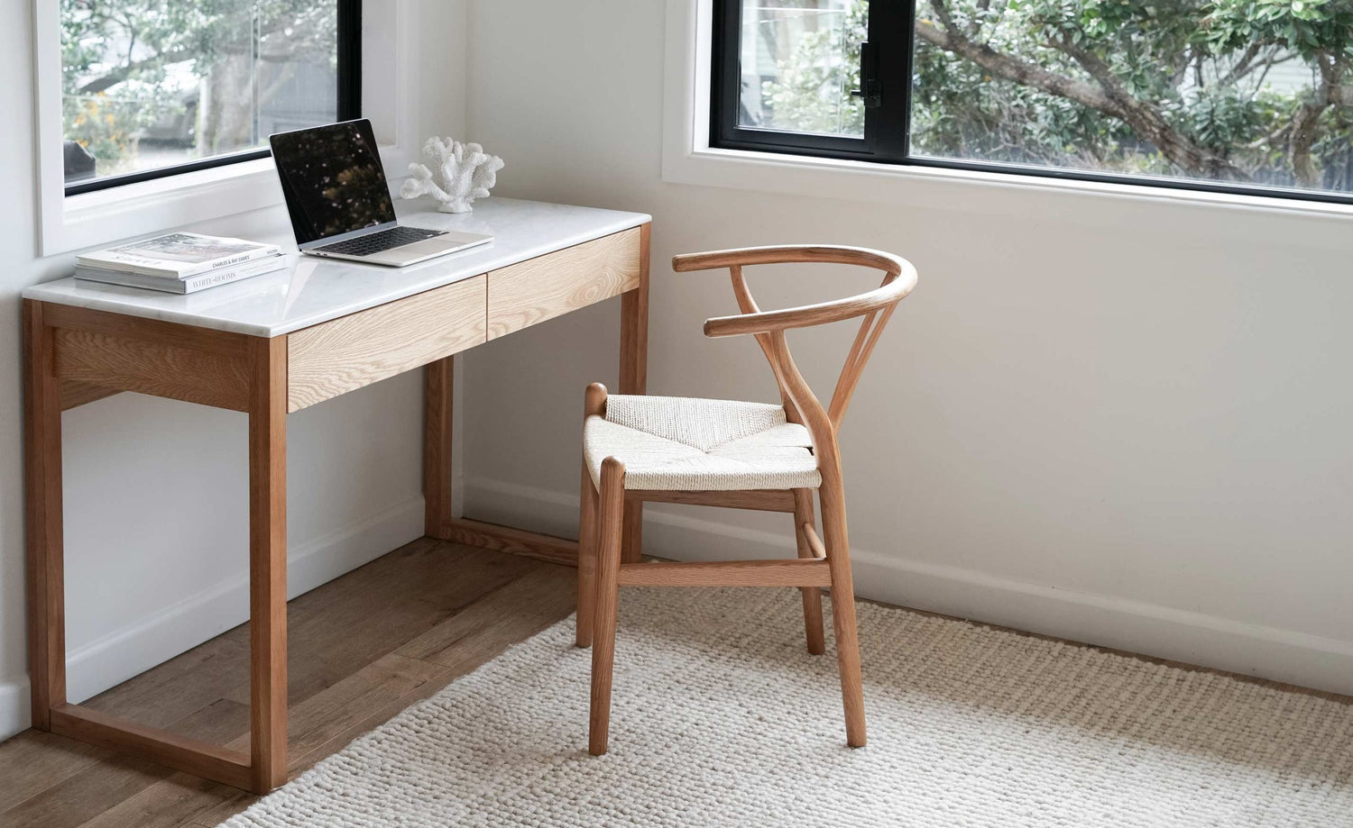
{"type": "Polygon", "coordinates": [[[1353,204],[1353,193],[1329,190],[913,155],[911,151],[911,92],[916,0],[870,0],[869,3],[866,42],[870,45],[867,51],[873,55],[862,54],[861,84],[875,84],[874,89],[870,90],[877,90],[881,100],[879,105],[866,108],[863,138],[743,127],[737,118],[741,93],[743,1],[713,0],[713,11],[709,89],[709,146],[713,149],[870,161],[893,166],[1001,173],[1030,178],[1128,184],[1155,189],[1261,196],[1291,201],[1353,204]],[[898,34],[890,38],[889,32],[898,34]]]}

